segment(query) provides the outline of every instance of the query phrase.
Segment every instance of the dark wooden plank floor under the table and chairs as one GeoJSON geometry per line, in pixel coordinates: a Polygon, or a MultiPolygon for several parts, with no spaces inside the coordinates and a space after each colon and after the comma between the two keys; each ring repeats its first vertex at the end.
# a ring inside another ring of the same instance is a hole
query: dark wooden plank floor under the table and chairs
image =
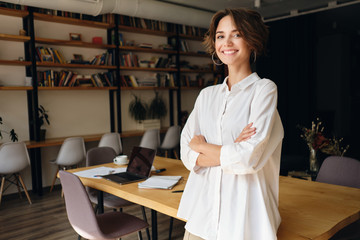
{"type": "MultiPolygon", "coordinates": [[[[77,239],[77,234],[67,219],[60,190],[52,193],[46,191],[42,197],[33,194],[30,196],[32,205],[28,203],[25,195],[22,199],[19,199],[18,195],[3,197],[0,205],[0,240],[77,239]]],[[[123,211],[142,219],[141,208],[138,205],[129,206],[123,211]]],[[[147,209],[146,213],[150,223],[150,210],[147,209]]],[[[169,219],[168,216],[158,213],[159,240],[168,239],[169,219]]],[[[184,223],[175,219],[172,239],[181,240],[183,234],[184,223]]],[[[142,235],[143,239],[147,239],[145,231],[142,235]]],[[[122,239],[136,240],[137,234],[122,239]]]]}

